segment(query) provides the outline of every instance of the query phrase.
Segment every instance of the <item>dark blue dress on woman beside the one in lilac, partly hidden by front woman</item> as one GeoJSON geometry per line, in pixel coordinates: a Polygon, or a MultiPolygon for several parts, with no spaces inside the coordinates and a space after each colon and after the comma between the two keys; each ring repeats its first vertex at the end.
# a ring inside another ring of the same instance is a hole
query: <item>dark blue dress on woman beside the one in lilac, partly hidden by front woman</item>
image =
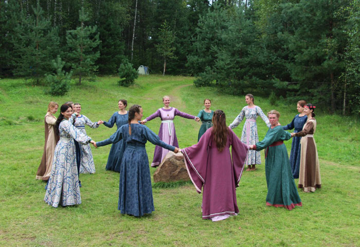
{"type": "MultiPolygon", "coordinates": [[[[117,129],[119,129],[122,125],[127,124],[129,122],[129,113],[124,115],[119,114],[118,111],[114,112],[113,116],[109,119],[109,121],[104,122],[106,127],[112,128],[114,124],[116,124],[117,129]]],[[[114,172],[120,172],[121,158],[124,153],[124,149],[122,149],[122,140],[119,142],[113,143],[110,148],[109,158],[107,158],[106,170],[113,170],[114,172]]]]}

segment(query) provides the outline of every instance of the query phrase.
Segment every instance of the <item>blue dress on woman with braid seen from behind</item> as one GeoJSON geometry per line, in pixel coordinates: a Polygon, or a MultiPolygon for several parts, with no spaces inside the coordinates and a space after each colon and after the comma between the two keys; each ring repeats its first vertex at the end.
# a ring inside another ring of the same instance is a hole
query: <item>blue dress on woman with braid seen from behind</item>
{"type": "Polygon", "coordinates": [[[171,151],[175,150],[175,147],[161,141],[153,131],[141,124],[131,124],[131,135],[129,124],[125,124],[109,139],[97,142],[96,145],[104,146],[120,140],[123,140],[125,151],[120,166],[118,210],[121,214],[134,216],[150,214],[155,208],[145,144],[150,141],[171,151]]]}

